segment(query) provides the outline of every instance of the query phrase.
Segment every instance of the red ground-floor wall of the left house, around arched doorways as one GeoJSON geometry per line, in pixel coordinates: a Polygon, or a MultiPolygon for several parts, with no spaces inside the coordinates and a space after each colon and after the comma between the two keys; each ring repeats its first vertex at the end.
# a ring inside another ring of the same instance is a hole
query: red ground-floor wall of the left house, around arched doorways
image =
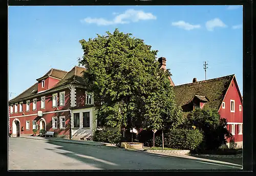
{"type": "MultiPolygon", "coordinates": [[[[33,134],[33,120],[36,120],[36,124],[40,125],[40,118],[44,118],[46,120],[46,131],[54,131],[56,135],[69,135],[70,130],[70,111],[59,112],[59,113],[50,113],[43,114],[42,117],[38,117],[37,115],[25,116],[25,117],[16,117],[20,121],[20,135],[32,135],[33,134]],[[57,129],[52,129],[52,117],[57,116],[57,129]],[[66,129],[59,129],[59,116],[66,117],[66,129]],[[30,121],[30,129],[26,130],[26,120],[30,121]],[[24,131],[22,131],[22,127],[24,131]]],[[[12,128],[12,122],[16,118],[10,118],[10,127],[12,128]]],[[[40,129],[40,127],[39,127],[40,129]]],[[[37,135],[39,135],[39,131],[37,131],[37,135]]],[[[12,131],[10,131],[12,133],[12,131]]]]}

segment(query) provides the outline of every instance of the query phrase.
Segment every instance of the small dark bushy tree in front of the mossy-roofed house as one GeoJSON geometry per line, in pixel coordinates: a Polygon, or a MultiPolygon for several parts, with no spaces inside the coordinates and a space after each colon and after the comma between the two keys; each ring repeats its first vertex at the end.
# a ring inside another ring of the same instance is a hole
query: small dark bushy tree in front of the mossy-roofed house
{"type": "Polygon", "coordinates": [[[188,114],[190,125],[195,125],[204,133],[206,149],[217,149],[230,133],[225,128],[227,125],[225,118],[220,118],[220,114],[212,109],[195,109],[188,114]]]}

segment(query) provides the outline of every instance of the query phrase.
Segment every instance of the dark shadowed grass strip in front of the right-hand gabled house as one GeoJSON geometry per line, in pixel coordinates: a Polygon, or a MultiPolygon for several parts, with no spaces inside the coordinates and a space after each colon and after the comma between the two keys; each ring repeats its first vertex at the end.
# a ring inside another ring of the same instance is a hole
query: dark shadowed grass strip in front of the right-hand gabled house
{"type": "Polygon", "coordinates": [[[190,151],[190,154],[207,154],[207,155],[238,155],[242,154],[242,149],[216,149],[216,150],[202,150],[202,151],[190,151]]]}

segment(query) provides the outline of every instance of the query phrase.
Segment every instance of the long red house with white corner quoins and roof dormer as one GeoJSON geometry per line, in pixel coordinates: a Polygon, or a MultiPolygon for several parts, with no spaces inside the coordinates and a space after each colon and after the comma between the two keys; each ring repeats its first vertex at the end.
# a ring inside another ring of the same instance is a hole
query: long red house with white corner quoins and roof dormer
{"type": "Polygon", "coordinates": [[[93,94],[86,92],[82,71],[50,69],[27,90],[9,101],[12,137],[37,135],[41,129],[56,137],[86,139],[93,136],[93,94]]]}

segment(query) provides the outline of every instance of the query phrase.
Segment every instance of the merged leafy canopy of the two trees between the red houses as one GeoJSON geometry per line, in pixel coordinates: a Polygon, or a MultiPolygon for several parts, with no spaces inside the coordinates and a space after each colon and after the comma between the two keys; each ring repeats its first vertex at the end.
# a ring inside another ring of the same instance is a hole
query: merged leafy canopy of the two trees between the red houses
{"type": "Polygon", "coordinates": [[[162,129],[164,121],[172,127],[178,124],[175,118],[181,111],[173,100],[169,71],[159,69],[158,51],[118,29],[106,34],[80,40],[84,55],[79,64],[86,67],[83,77],[98,103],[98,120],[137,129],[162,129]]]}

